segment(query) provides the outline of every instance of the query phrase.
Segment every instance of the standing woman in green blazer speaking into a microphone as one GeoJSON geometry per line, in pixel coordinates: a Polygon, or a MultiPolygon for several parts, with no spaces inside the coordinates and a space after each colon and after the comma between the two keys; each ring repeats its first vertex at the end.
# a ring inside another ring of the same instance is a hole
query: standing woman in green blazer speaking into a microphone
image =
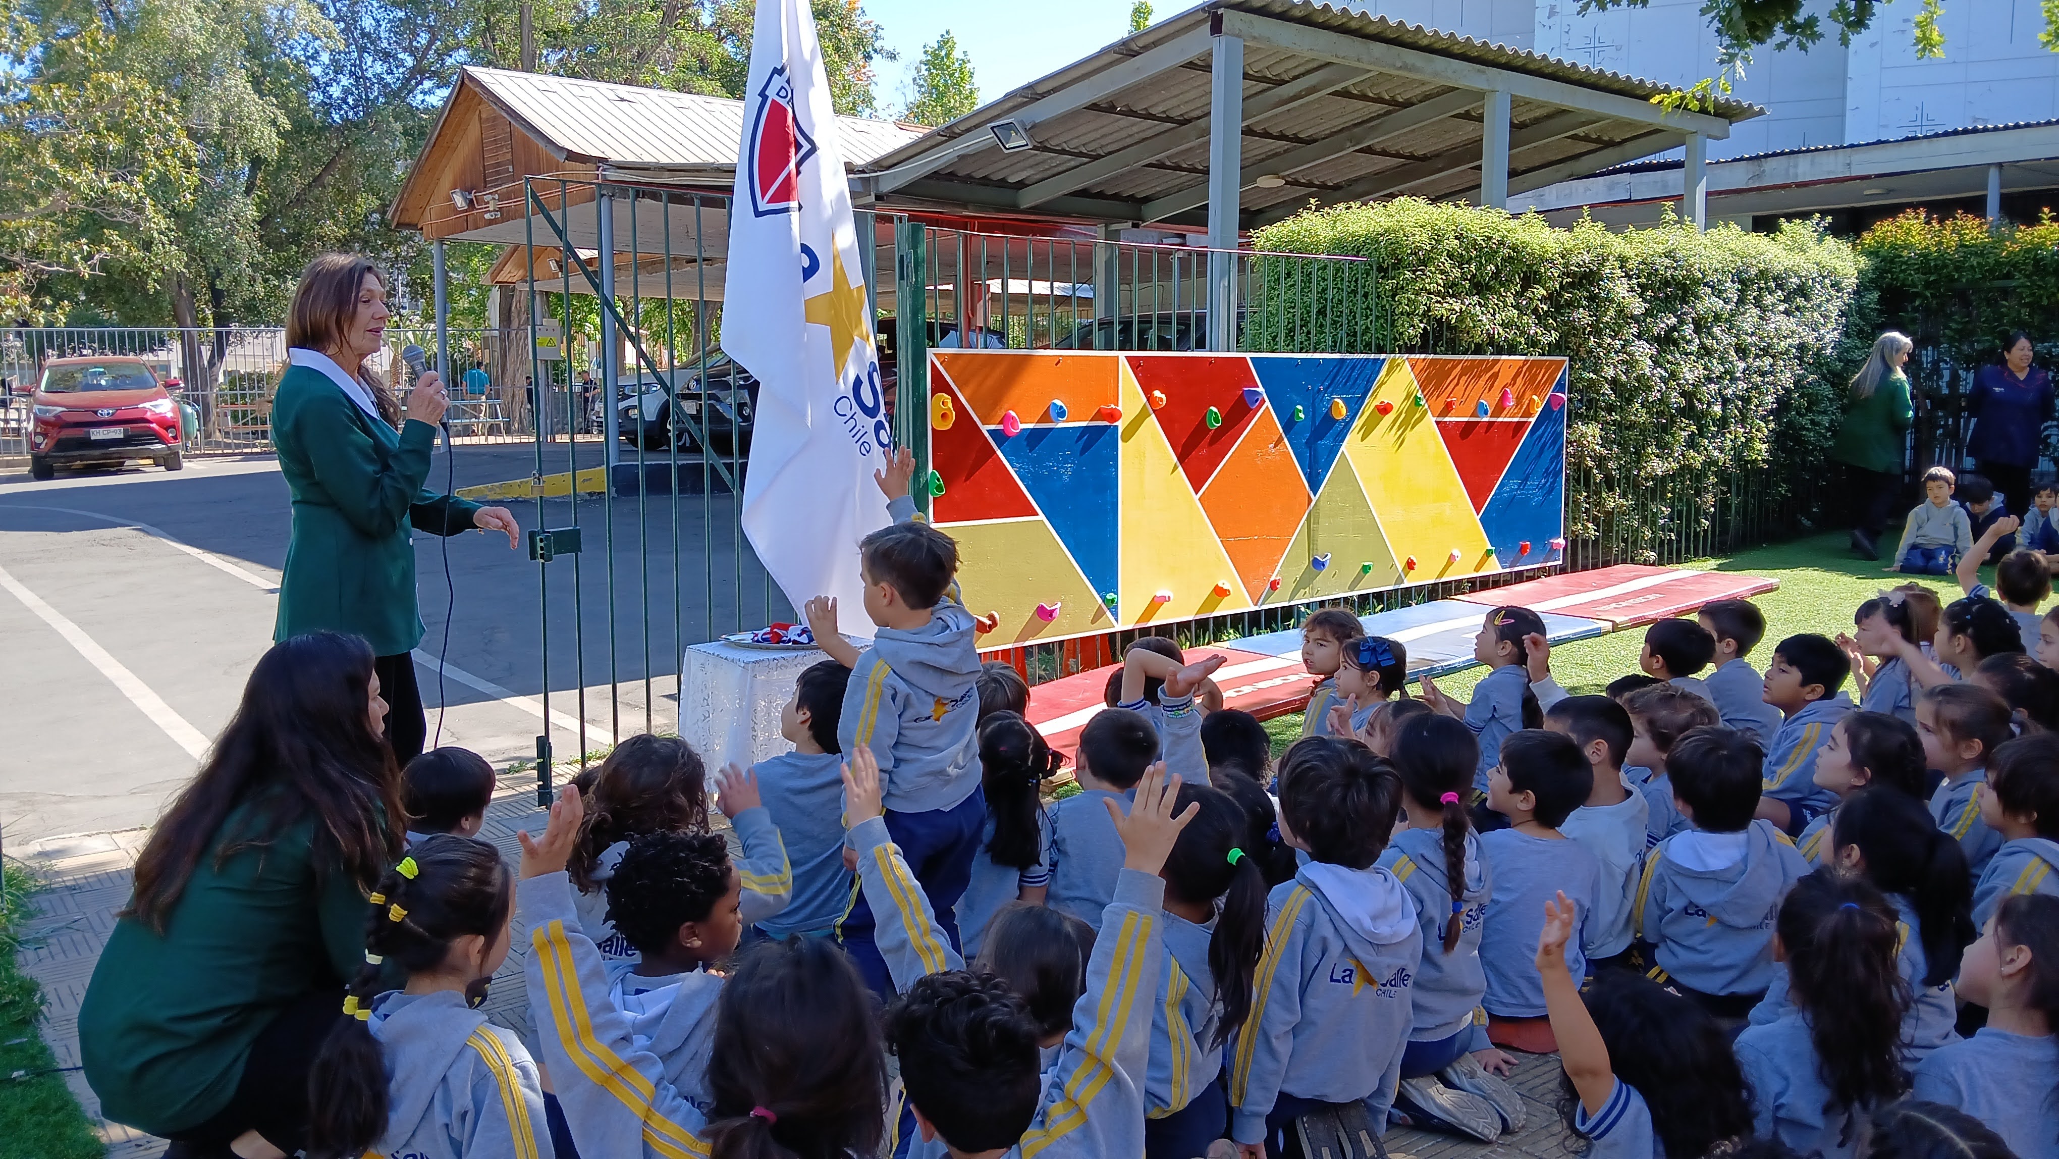
{"type": "Polygon", "coordinates": [[[428,373],[402,412],[364,366],[385,342],[389,315],[385,280],[364,257],[323,253],[301,274],[286,317],[292,366],[272,399],[272,447],[292,492],[272,638],[317,630],[364,636],[379,657],[387,741],[406,768],[428,733],[410,657],[422,642],[410,527],[432,535],[502,531],[515,548],[519,525],[504,506],[422,486],[449,397],[428,373]]]}

